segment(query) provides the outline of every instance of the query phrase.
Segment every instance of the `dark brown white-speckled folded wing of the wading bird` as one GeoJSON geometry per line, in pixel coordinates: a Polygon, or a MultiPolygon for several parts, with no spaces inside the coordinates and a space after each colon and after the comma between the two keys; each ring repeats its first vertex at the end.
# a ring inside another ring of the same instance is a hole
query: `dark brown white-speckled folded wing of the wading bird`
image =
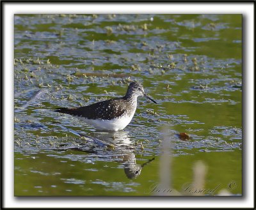
{"type": "Polygon", "coordinates": [[[92,105],[88,105],[86,107],[79,108],[60,108],[54,110],[54,112],[60,112],[65,114],[70,114],[72,116],[85,117],[86,119],[113,119],[115,117],[120,117],[125,112],[124,105],[121,106],[122,98],[115,98],[100,101],[98,103],[93,103],[92,105]],[[121,101],[120,101],[121,100],[121,101]]]}

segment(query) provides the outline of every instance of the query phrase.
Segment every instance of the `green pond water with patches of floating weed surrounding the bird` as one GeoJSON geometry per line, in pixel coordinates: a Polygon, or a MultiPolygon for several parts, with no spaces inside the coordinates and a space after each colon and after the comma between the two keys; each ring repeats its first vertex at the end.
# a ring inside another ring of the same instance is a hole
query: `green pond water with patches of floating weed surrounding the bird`
{"type": "Polygon", "coordinates": [[[159,195],[166,126],[166,195],[188,195],[198,161],[200,195],[242,195],[241,15],[14,18],[15,196],[159,195]],[[157,105],[138,98],[124,131],[52,112],[123,96],[132,80],[157,105]]]}

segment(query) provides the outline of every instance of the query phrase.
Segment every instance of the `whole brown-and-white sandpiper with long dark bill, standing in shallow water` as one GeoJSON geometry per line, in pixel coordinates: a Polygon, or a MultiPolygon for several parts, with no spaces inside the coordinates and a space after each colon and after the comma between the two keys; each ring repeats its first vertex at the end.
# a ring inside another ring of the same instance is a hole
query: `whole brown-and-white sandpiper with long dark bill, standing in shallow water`
{"type": "Polygon", "coordinates": [[[60,108],[54,112],[70,114],[98,130],[118,131],[123,130],[131,122],[137,108],[138,96],[145,96],[156,103],[145,94],[144,88],[139,82],[131,82],[122,98],[100,101],[86,107],[60,108]]]}

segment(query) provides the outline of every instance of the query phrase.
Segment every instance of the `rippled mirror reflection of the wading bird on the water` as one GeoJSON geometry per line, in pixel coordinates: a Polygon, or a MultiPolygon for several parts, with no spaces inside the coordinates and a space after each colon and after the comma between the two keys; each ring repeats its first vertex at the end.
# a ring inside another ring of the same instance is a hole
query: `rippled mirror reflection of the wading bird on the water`
{"type": "MultiPolygon", "coordinates": [[[[134,154],[134,142],[131,140],[128,131],[113,131],[113,132],[94,132],[90,135],[78,133],[81,137],[90,140],[95,145],[93,151],[99,154],[100,147],[108,147],[107,150],[101,150],[100,156],[111,157],[124,165],[125,175],[129,179],[134,179],[141,174],[142,168],[150,163],[151,160],[146,161],[142,165],[136,163],[136,156],[134,154]],[[112,148],[112,149],[111,149],[112,148]]],[[[83,147],[74,148],[79,151],[84,151],[83,147]]],[[[92,151],[91,151],[92,152],[92,151]]]]}

